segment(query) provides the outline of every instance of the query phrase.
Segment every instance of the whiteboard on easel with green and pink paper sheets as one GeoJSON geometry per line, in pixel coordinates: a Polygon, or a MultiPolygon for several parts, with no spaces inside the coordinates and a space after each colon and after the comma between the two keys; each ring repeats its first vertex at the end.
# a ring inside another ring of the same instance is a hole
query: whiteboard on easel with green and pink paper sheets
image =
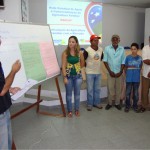
{"type": "Polygon", "coordinates": [[[39,83],[60,74],[48,25],[0,22],[0,37],[0,61],[5,77],[17,59],[22,65],[12,86],[22,88],[28,79],[39,83]]]}

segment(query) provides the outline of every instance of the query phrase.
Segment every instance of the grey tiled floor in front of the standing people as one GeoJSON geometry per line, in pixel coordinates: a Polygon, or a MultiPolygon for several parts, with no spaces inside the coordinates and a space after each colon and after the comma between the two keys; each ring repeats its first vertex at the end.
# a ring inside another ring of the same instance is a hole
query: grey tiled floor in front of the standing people
{"type": "MultiPolygon", "coordinates": [[[[27,104],[14,104],[11,113],[27,104]]],[[[59,107],[42,107],[61,112],[59,107]]],[[[12,120],[17,149],[150,149],[150,112],[125,113],[116,108],[91,112],[81,104],[81,116],[49,117],[30,109],[12,120]]]]}

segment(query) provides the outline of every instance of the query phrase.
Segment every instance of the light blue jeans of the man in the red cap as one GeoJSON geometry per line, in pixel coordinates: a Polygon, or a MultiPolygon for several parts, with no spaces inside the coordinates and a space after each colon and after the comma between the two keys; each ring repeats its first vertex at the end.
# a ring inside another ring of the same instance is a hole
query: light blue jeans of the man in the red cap
{"type": "Polygon", "coordinates": [[[101,74],[87,74],[87,105],[100,104],[100,81],[101,74]]]}

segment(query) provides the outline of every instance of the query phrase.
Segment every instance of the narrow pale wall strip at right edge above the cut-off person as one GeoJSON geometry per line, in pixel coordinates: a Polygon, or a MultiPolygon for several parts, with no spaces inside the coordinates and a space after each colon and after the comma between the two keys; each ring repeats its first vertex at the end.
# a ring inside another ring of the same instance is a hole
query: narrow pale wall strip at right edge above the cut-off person
{"type": "Polygon", "coordinates": [[[144,36],[144,45],[147,45],[149,42],[150,36],[150,8],[145,10],[145,36],[144,36]]]}

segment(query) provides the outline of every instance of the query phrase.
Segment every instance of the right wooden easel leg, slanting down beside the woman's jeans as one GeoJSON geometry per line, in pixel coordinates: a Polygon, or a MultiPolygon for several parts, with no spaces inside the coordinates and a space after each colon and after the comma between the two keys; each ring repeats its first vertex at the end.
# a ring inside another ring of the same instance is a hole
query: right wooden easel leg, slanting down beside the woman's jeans
{"type": "Polygon", "coordinates": [[[55,82],[56,82],[56,87],[57,87],[57,91],[58,91],[58,95],[59,95],[59,99],[60,99],[60,103],[61,103],[61,109],[62,109],[62,112],[64,114],[64,117],[66,117],[66,111],[65,111],[64,104],[63,104],[63,100],[62,100],[62,96],[61,96],[60,87],[59,87],[59,83],[58,83],[58,78],[57,77],[55,78],[55,82]]]}

